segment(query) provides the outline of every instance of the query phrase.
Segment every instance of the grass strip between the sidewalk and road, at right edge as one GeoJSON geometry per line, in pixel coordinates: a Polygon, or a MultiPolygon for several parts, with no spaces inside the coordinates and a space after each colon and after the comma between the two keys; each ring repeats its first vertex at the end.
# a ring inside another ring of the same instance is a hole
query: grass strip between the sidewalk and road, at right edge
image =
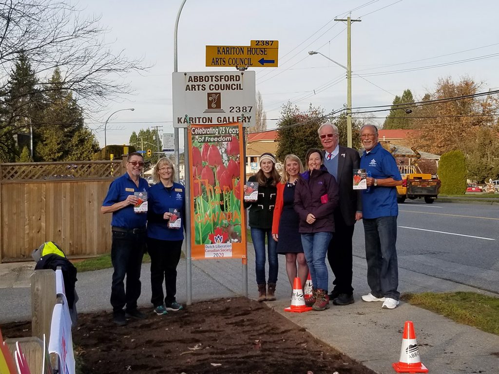
{"type": "Polygon", "coordinates": [[[423,292],[403,294],[401,299],[455,322],[499,335],[499,298],[497,297],[475,292],[423,292]]]}

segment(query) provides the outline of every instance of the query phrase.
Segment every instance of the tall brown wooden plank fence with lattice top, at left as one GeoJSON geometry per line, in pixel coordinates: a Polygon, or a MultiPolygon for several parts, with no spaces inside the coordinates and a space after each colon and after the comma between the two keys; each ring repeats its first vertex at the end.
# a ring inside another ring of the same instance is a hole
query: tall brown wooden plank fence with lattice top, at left
{"type": "Polygon", "coordinates": [[[70,258],[111,251],[111,214],[100,207],[124,160],[0,164],[0,263],[31,260],[54,241],[70,258]]]}

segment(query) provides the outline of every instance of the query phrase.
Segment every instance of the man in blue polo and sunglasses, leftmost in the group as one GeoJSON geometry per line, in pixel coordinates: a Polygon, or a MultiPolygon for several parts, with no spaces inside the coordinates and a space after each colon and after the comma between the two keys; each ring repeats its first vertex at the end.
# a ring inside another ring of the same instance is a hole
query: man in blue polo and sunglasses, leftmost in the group
{"type": "Polygon", "coordinates": [[[113,322],[118,326],[126,325],[126,318],[146,317],[137,309],[137,300],[140,296],[142,257],[146,249],[147,211],[134,212],[134,205],[139,200],[135,192],[149,190],[147,181],[140,178],[143,168],[144,158],[140,153],[134,152],[128,155],[127,172],[111,183],[100,209],[102,213],[113,213],[111,261],[114,273],[111,284],[111,305],[113,322]],[[125,306],[126,309],[123,310],[125,306]]]}

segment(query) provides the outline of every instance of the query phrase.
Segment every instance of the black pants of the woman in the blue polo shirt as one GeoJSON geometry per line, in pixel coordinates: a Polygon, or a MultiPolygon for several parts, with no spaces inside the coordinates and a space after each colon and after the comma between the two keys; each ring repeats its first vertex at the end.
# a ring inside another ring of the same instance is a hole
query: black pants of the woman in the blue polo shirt
{"type": "Polygon", "coordinates": [[[163,305],[163,280],[165,281],[165,303],[170,304],[177,294],[177,265],[180,261],[183,240],[159,240],[147,238],[147,251],[151,256],[151,303],[163,305]]]}

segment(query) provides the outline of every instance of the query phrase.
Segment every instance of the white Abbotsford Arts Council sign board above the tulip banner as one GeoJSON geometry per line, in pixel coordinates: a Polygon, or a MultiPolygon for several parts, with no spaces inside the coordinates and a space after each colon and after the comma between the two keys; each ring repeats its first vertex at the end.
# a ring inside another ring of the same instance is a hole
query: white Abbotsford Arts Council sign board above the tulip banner
{"type": "Polygon", "coordinates": [[[173,73],[173,127],[255,125],[254,71],[173,73]]]}

